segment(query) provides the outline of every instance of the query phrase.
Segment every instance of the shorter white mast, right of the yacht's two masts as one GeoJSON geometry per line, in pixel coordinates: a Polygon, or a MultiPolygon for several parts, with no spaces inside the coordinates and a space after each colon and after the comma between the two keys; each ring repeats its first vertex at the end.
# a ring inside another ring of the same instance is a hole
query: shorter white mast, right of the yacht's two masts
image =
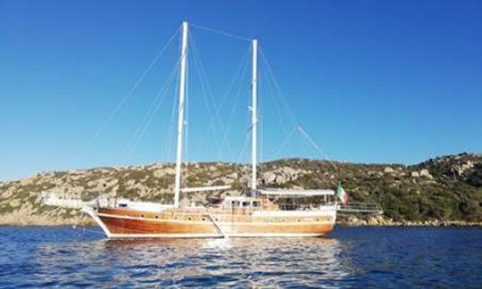
{"type": "Polygon", "coordinates": [[[251,189],[255,191],[257,188],[257,176],[256,176],[256,165],[257,165],[257,128],[258,128],[258,116],[257,116],[257,90],[258,90],[258,40],[253,39],[253,76],[252,76],[252,85],[251,85],[251,94],[252,94],[252,105],[251,105],[251,129],[252,129],[252,137],[251,137],[251,189]]]}

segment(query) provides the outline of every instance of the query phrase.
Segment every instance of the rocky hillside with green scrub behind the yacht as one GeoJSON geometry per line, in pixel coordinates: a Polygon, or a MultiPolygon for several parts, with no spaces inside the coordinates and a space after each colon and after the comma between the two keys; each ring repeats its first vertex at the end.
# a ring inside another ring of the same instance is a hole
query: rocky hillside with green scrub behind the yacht
{"type": "MultiPolygon", "coordinates": [[[[381,221],[482,222],[482,154],[461,153],[417,165],[355,164],[289,159],[263,163],[260,186],[289,188],[345,187],[351,200],[378,202],[381,221]]],[[[183,202],[205,202],[219,194],[240,194],[249,169],[235,163],[190,163],[187,186],[231,185],[229,192],[184,194],[183,202]]],[[[0,181],[0,224],[54,225],[85,222],[79,211],[41,205],[41,192],[171,202],[174,169],[156,163],[38,173],[31,178],[0,181]]]]}

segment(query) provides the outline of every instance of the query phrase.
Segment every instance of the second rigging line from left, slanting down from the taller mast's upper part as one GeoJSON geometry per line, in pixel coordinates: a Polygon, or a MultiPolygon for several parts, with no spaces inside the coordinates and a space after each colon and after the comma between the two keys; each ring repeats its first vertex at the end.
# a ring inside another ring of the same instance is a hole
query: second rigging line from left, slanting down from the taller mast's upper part
{"type": "Polygon", "coordinates": [[[145,129],[146,121],[149,120],[151,118],[151,115],[157,111],[157,109],[159,108],[158,103],[163,101],[163,98],[166,94],[166,90],[167,90],[167,88],[170,87],[170,84],[172,83],[172,80],[173,80],[176,72],[178,71],[178,64],[179,64],[179,61],[174,65],[174,67],[170,71],[170,74],[169,74],[168,78],[166,78],[164,83],[162,83],[162,86],[157,91],[157,93],[155,95],[155,98],[154,98],[154,101],[151,104],[151,106],[149,107],[149,110],[147,111],[147,113],[145,113],[144,118],[139,122],[139,125],[137,126],[134,135],[131,137],[128,145],[126,146],[126,148],[124,149],[124,152],[122,153],[122,155],[123,155],[122,163],[127,161],[128,156],[130,155],[131,151],[133,150],[134,144],[137,144],[137,139],[140,137],[139,135],[141,135],[141,131],[143,131],[145,129]]]}

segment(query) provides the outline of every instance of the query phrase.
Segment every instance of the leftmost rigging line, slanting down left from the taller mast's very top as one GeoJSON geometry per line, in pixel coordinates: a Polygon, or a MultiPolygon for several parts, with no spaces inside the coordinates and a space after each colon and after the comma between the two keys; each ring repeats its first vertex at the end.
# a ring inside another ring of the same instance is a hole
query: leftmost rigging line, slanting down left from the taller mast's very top
{"type": "Polygon", "coordinates": [[[174,34],[170,37],[170,39],[168,40],[168,42],[166,43],[166,45],[164,45],[161,49],[161,51],[154,57],[154,59],[149,63],[149,65],[147,66],[147,68],[141,73],[140,77],[137,78],[136,82],[134,83],[134,85],[132,87],[130,87],[129,89],[129,92],[124,95],[122,97],[122,99],[120,100],[120,103],[118,103],[118,105],[114,108],[113,111],[111,111],[111,113],[109,114],[109,116],[107,117],[106,120],[104,120],[104,123],[100,126],[100,128],[97,129],[96,131],[96,134],[94,134],[94,136],[92,136],[90,138],[90,140],[87,142],[87,145],[85,145],[82,150],[80,151],[79,153],[79,157],[78,157],[78,160],[77,161],[80,161],[81,157],[84,155],[84,153],[87,152],[88,148],[90,148],[91,145],[94,144],[94,142],[96,141],[97,137],[101,134],[101,132],[104,130],[104,128],[107,126],[107,124],[114,118],[114,116],[117,114],[117,112],[120,111],[120,108],[124,105],[124,103],[126,103],[128,101],[128,99],[130,98],[130,96],[134,93],[134,91],[137,89],[137,87],[139,86],[139,84],[142,82],[142,80],[144,80],[145,76],[147,75],[147,73],[149,73],[149,71],[153,68],[154,64],[159,60],[159,58],[162,56],[162,54],[166,51],[167,47],[170,45],[170,43],[172,42],[172,40],[174,39],[174,37],[176,37],[176,35],[178,35],[179,33],[179,30],[180,30],[180,27],[176,30],[176,32],[174,32],[174,34]]]}

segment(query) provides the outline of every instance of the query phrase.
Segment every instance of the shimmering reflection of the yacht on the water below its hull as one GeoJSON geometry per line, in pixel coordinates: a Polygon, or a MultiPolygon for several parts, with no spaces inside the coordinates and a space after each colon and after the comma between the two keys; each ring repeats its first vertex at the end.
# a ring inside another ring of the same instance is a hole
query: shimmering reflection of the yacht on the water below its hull
{"type": "Polygon", "coordinates": [[[320,285],[350,271],[330,238],[113,239],[104,251],[121,274],[157,285],[320,285]]]}

